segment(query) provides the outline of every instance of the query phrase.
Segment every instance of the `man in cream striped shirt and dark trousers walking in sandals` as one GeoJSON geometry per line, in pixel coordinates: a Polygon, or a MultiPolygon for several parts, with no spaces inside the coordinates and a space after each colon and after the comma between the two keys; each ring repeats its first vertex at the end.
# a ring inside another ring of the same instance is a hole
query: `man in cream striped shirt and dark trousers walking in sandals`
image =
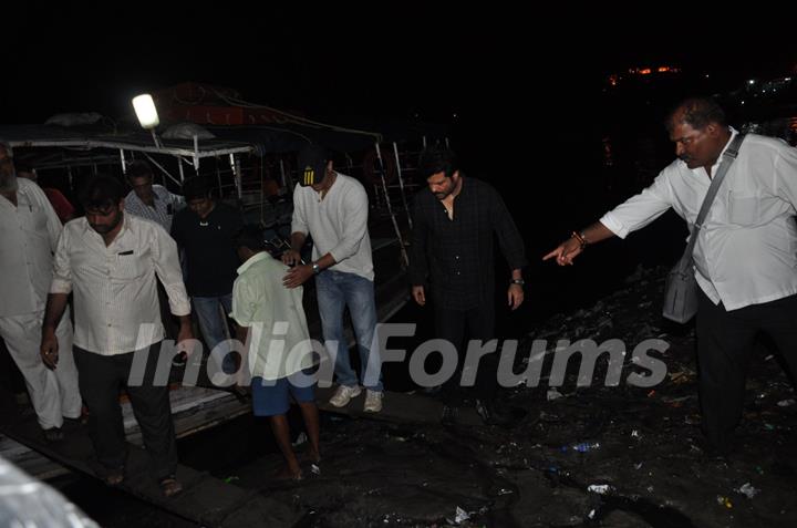
{"type": "Polygon", "coordinates": [[[41,353],[45,363],[54,363],[63,353],[54,329],[73,292],[74,358],[99,474],[110,485],[124,478],[126,443],[118,403],[124,386],[155,476],[164,495],[170,496],[182,486],[175,476],[168,385],[154,381],[164,335],[155,276],[166,289],[172,313],[180,320],[178,348],[192,339],[190,304],[177,245],[155,222],[125,215],[122,196],[122,184],[114,178],[89,182],[81,197],[85,217],[64,227],[55,251],[41,353]],[[142,354],[144,362],[138,361],[142,354]]]}

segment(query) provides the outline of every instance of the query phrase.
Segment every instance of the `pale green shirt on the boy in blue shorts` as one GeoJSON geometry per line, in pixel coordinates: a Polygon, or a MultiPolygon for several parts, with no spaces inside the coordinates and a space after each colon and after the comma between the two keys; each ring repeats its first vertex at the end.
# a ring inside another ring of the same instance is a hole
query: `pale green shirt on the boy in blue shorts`
{"type": "Polygon", "coordinates": [[[256,345],[249,369],[263,380],[286,377],[313,362],[302,288],[282,286],[287,271],[287,266],[262,251],[238,268],[232,287],[230,317],[249,328],[249,341],[256,345]]]}

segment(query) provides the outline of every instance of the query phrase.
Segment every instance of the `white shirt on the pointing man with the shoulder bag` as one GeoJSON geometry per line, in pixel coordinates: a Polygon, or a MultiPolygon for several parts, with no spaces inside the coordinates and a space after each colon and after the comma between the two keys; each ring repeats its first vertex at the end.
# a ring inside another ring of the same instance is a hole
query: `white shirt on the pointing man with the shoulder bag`
{"type": "MultiPolygon", "coordinates": [[[[733,138],[737,133],[732,133],[733,138]]],[[[722,156],[712,175],[721,162],[722,156]]],[[[710,185],[703,167],[690,169],[676,159],[600,221],[624,238],[672,207],[691,231],[710,185]]],[[[736,310],[797,293],[796,204],[797,149],[747,134],[694,249],[697,283],[715,304],[736,310]]]]}

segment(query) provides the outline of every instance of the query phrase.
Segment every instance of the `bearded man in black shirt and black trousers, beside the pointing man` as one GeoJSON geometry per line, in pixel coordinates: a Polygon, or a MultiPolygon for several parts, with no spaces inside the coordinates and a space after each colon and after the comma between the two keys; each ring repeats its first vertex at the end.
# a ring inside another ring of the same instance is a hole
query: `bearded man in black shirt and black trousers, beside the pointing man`
{"type": "MultiPolygon", "coordinates": [[[[416,195],[413,204],[412,294],[415,302],[425,306],[428,283],[436,337],[454,344],[462,363],[467,350],[466,328],[473,340],[494,339],[494,237],[498,237],[511,269],[507,300],[513,310],[524,300],[524,242],[495,188],[466,178],[454,152],[437,147],[424,151],[418,173],[428,187],[416,195]]],[[[493,407],[497,366],[495,353],[485,355],[475,382],[476,408],[487,423],[498,421],[493,407]]]]}

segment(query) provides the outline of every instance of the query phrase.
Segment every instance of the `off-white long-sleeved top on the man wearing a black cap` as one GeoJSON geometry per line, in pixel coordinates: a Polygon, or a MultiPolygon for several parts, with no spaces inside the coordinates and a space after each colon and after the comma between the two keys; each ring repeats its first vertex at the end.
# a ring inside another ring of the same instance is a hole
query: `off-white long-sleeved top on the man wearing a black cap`
{"type": "Polygon", "coordinates": [[[330,269],[374,280],[368,195],[351,176],[337,173],[323,199],[312,187],[297,186],[291,232],[312,236],[313,260],[331,253],[337,263],[330,269]]]}

